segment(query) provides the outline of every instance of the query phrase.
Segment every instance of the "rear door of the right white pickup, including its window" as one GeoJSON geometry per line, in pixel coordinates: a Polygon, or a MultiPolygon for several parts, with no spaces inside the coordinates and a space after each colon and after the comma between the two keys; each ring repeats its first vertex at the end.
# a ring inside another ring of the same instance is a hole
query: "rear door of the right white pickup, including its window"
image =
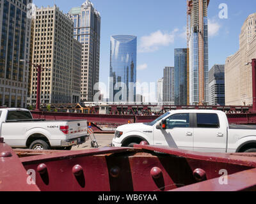
{"type": "Polygon", "coordinates": [[[194,150],[196,152],[226,152],[227,127],[216,113],[196,113],[194,150]]]}

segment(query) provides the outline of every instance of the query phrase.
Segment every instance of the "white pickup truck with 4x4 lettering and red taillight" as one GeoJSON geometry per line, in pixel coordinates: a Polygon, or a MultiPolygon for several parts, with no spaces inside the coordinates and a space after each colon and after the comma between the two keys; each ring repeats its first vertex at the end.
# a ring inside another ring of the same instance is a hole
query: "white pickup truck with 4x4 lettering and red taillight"
{"type": "Polygon", "coordinates": [[[35,150],[70,150],[89,139],[86,120],[35,120],[20,108],[0,109],[0,137],[13,148],[35,150]]]}

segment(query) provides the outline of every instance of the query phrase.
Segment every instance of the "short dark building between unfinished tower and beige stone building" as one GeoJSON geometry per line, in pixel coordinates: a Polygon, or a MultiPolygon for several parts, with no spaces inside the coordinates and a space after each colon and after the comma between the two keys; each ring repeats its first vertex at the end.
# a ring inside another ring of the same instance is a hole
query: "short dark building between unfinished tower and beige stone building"
{"type": "Polygon", "coordinates": [[[224,64],[214,64],[209,71],[209,105],[225,106],[224,64]]]}

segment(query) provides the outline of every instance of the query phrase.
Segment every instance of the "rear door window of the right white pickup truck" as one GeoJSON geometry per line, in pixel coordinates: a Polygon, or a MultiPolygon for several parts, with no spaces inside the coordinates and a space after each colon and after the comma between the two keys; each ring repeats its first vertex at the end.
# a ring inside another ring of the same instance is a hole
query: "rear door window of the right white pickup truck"
{"type": "Polygon", "coordinates": [[[220,128],[220,121],[217,114],[198,113],[196,114],[197,128],[220,128]]]}

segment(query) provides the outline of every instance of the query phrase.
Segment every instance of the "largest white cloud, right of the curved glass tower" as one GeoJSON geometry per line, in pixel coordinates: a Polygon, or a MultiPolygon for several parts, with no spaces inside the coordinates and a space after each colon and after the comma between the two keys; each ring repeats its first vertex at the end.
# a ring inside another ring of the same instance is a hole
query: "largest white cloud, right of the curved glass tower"
{"type": "Polygon", "coordinates": [[[162,46],[168,46],[174,42],[175,33],[179,29],[174,29],[171,33],[156,31],[149,36],[142,36],[140,39],[139,52],[154,52],[162,46]]]}

